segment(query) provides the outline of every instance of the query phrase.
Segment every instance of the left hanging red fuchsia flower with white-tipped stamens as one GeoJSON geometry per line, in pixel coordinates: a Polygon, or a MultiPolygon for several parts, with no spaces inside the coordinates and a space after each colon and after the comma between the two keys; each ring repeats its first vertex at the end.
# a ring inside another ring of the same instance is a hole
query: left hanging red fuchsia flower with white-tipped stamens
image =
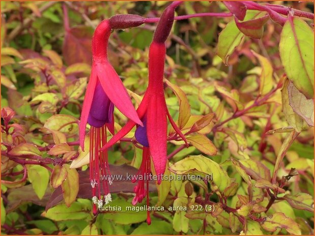
{"type": "Polygon", "coordinates": [[[100,181],[100,175],[110,176],[107,151],[99,152],[106,144],[106,129],[114,132],[113,110],[118,108],[125,116],[142,125],[116,71],[107,59],[108,38],[112,29],[135,27],[144,23],[144,18],[136,15],[117,15],[103,20],[96,28],[92,39],[93,64],[90,81],[85,93],[81,120],[80,146],[84,150],[85,128],[87,123],[90,129],[90,181],[93,193],[93,213],[96,214],[96,204],[102,207],[111,201],[108,184],[112,181],[100,181]],[[101,183],[100,183],[101,182],[101,183]],[[102,199],[101,193],[104,192],[102,199]]]}

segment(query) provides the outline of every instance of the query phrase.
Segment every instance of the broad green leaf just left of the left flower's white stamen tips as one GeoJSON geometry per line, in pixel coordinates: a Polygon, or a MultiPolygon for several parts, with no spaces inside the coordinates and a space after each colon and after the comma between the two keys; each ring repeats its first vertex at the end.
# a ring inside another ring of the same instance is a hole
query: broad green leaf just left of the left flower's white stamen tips
{"type": "Polygon", "coordinates": [[[90,211],[91,209],[84,209],[82,204],[74,202],[70,207],[60,204],[50,208],[47,212],[43,212],[42,216],[55,221],[84,220],[91,217],[90,211]]]}

